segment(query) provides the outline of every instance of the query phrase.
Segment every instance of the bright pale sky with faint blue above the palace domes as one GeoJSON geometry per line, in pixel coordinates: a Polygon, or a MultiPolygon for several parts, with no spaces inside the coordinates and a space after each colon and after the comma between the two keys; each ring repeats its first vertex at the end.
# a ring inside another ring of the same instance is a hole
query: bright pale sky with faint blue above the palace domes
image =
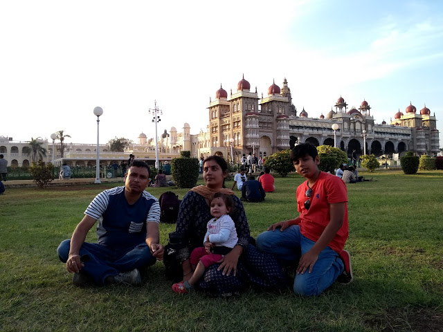
{"type": "Polygon", "coordinates": [[[66,142],[138,142],[188,122],[244,78],[291,89],[318,118],[343,96],[389,123],[412,102],[435,113],[443,147],[443,1],[0,0],[0,136],[64,130],[66,142]]]}

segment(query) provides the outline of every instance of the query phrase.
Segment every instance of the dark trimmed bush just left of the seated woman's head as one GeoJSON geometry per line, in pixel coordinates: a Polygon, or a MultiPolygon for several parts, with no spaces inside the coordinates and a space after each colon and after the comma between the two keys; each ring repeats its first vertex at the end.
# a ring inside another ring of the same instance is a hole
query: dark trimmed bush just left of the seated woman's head
{"type": "Polygon", "coordinates": [[[181,151],[180,158],[171,160],[171,174],[179,188],[192,188],[199,179],[199,160],[190,158],[190,151],[181,151]]]}

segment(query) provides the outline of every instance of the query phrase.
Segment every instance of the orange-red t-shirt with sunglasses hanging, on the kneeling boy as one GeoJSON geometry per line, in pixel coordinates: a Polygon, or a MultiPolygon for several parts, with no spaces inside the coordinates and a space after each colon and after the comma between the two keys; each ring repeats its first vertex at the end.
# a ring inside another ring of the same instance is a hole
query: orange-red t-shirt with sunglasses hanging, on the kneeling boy
{"type": "Polygon", "coordinates": [[[347,188],[345,183],[332,174],[320,172],[316,183],[311,187],[311,206],[305,209],[308,190],[307,181],[297,188],[297,207],[300,212],[300,232],[312,241],[318,241],[320,235],[325,230],[331,220],[329,214],[329,204],[345,202],[345,215],[343,225],[338,230],[334,239],[329,242],[329,247],[340,253],[345,246],[349,234],[349,224],[347,222],[347,188]]]}

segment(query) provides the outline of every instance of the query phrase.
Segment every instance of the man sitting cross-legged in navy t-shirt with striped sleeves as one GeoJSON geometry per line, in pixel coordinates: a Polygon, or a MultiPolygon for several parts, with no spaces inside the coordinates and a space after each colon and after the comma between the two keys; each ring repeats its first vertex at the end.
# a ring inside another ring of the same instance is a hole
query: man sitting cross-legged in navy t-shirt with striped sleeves
{"type": "Polygon", "coordinates": [[[71,240],[60,243],[57,254],[66,270],[74,273],[74,284],[141,284],[138,269],[163,259],[160,205],[145,192],[149,179],[149,167],[134,161],[125,175],[125,186],[98,194],[71,240]],[[84,242],[96,221],[98,243],[84,242]]]}

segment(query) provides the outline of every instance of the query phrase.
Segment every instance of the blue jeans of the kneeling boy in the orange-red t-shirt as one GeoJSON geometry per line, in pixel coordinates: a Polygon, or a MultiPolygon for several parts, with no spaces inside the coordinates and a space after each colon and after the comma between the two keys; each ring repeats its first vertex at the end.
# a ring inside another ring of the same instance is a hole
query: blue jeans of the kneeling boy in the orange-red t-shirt
{"type": "MultiPolygon", "coordinates": [[[[292,225],[283,232],[280,232],[280,229],[262,232],[256,240],[259,250],[272,253],[275,258],[288,262],[299,259],[300,253],[304,255],[314,244],[314,241],[300,233],[299,225],[292,225]]],[[[343,270],[343,261],[338,254],[326,247],[318,255],[311,273],[308,269],[304,274],[296,274],[293,291],[303,296],[318,296],[336,281],[343,270]]]]}

